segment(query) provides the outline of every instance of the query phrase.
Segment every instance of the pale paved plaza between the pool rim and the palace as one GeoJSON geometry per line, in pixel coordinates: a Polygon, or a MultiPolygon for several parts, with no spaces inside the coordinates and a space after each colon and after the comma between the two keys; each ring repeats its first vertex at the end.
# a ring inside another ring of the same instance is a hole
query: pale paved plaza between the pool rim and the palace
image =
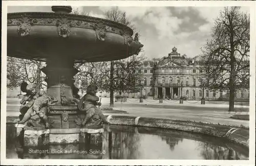
{"type": "MultiPolygon", "coordinates": [[[[102,107],[108,107],[110,98],[102,98],[102,107]]],[[[216,102],[212,104],[206,102],[201,105],[197,101],[184,101],[184,104],[179,104],[179,101],[163,101],[159,103],[158,100],[143,100],[139,103],[137,99],[128,99],[127,102],[115,102],[114,109],[127,111],[127,116],[141,116],[141,117],[157,117],[170,118],[173,120],[196,121],[204,123],[228,124],[236,126],[249,126],[249,121],[235,120],[230,118],[234,114],[248,114],[249,106],[235,105],[237,112],[228,112],[228,103],[216,102]],[[171,103],[173,102],[173,103],[171,103]],[[189,102],[189,103],[188,103],[189,102]]],[[[19,115],[19,99],[7,99],[7,116],[19,115]]],[[[113,113],[106,113],[115,115],[113,113]]]]}

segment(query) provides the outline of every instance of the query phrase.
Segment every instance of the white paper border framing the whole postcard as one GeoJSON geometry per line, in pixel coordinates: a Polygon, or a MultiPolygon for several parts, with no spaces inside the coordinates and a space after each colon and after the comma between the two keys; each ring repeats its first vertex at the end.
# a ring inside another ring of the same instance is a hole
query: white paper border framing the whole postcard
{"type": "Polygon", "coordinates": [[[2,1],[1,163],[5,165],[254,165],[255,163],[255,1],[2,1]],[[248,6],[250,7],[250,136],[249,160],[81,160],[6,159],[7,6],[248,6]]]}

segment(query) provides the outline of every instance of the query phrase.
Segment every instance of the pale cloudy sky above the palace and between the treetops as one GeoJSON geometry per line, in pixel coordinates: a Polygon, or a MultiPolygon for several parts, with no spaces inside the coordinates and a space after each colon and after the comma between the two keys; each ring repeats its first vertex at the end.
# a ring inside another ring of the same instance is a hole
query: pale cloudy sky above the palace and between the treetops
{"type": "MultiPolygon", "coordinates": [[[[90,13],[90,16],[104,18],[104,12],[111,6],[72,6],[73,9],[90,13]]],[[[187,57],[201,54],[201,49],[210,39],[210,33],[224,7],[118,7],[126,12],[127,18],[137,27],[140,42],[148,59],[162,58],[172,52],[187,57]]],[[[52,12],[50,6],[9,6],[11,12],[52,12]]],[[[249,13],[248,7],[241,11],[249,13]]]]}

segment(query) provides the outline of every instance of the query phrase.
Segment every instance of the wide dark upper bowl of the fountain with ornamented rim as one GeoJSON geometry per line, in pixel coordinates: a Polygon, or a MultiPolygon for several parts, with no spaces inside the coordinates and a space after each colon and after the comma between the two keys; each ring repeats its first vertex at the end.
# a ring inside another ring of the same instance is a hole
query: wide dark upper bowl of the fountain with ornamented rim
{"type": "Polygon", "coordinates": [[[10,57],[46,61],[62,57],[98,62],[137,54],[142,44],[132,29],[111,20],[49,12],[8,13],[7,52],[10,57]]]}

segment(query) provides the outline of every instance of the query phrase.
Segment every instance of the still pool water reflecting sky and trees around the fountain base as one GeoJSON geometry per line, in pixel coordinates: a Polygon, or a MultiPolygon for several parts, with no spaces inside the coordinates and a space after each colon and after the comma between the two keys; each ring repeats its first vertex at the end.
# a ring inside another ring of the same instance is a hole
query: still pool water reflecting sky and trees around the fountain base
{"type": "Polygon", "coordinates": [[[41,159],[212,159],[239,160],[248,159],[248,150],[230,144],[228,141],[205,137],[199,134],[173,130],[156,131],[113,126],[112,131],[105,131],[102,144],[48,145],[34,147],[35,150],[72,150],[72,153],[29,153],[30,147],[23,147],[22,138],[16,138],[14,125],[7,125],[6,158],[41,158],[41,159]],[[137,130],[137,129],[136,129],[137,130]],[[138,131],[138,130],[137,130],[138,131]],[[142,134],[142,133],[144,134],[142,134]],[[150,133],[150,134],[147,134],[150,133]],[[100,150],[103,154],[82,153],[100,150]],[[74,152],[77,153],[74,153],[74,152]],[[79,152],[79,153],[78,153],[79,152]]]}

